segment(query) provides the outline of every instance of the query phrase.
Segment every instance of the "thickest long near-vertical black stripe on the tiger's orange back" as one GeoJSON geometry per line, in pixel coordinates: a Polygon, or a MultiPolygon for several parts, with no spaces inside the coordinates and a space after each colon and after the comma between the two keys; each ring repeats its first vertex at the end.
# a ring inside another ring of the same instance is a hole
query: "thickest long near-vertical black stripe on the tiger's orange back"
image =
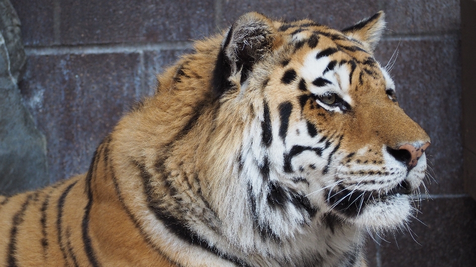
{"type": "Polygon", "coordinates": [[[91,180],[93,178],[93,175],[96,176],[98,161],[100,160],[101,151],[103,151],[99,151],[99,149],[103,148],[104,147],[100,145],[100,147],[98,147],[98,149],[96,149],[96,151],[94,152],[93,160],[91,162],[91,165],[89,166],[88,174],[86,175],[85,191],[88,196],[88,203],[84,208],[84,216],[83,221],[81,223],[84,250],[86,252],[86,256],[88,257],[89,262],[94,267],[98,267],[99,262],[96,259],[96,255],[94,253],[93,246],[91,243],[91,237],[89,236],[89,214],[91,212],[91,207],[93,206],[93,191],[91,190],[91,180]]]}

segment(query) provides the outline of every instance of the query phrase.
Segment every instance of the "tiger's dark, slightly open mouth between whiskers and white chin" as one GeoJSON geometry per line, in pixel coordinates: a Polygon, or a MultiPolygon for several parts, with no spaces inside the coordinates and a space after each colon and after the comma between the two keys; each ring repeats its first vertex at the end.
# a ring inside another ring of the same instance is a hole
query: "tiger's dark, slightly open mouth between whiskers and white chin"
{"type": "Polygon", "coordinates": [[[327,203],[331,209],[349,217],[356,217],[367,205],[391,201],[396,195],[411,195],[413,192],[407,181],[402,181],[389,190],[350,190],[336,189],[327,191],[327,203]]]}

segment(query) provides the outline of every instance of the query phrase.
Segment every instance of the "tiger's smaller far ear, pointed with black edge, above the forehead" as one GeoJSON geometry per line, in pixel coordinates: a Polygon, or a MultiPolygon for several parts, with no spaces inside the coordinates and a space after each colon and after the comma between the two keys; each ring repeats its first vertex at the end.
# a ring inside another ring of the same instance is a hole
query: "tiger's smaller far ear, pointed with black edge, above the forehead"
{"type": "Polygon", "coordinates": [[[375,15],[365,18],[356,25],[342,30],[347,36],[360,41],[365,45],[366,50],[373,53],[378,42],[382,38],[385,29],[385,13],[379,11],[375,15]]]}

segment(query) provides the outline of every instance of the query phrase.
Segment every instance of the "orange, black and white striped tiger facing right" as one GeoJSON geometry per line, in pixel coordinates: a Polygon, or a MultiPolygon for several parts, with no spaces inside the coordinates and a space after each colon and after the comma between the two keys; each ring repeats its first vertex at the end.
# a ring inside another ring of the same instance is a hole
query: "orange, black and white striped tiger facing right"
{"type": "Polygon", "coordinates": [[[365,267],[405,228],[430,138],[342,31],[250,12],[196,41],[87,173],[0,197],[2,266],[365,267]]]}

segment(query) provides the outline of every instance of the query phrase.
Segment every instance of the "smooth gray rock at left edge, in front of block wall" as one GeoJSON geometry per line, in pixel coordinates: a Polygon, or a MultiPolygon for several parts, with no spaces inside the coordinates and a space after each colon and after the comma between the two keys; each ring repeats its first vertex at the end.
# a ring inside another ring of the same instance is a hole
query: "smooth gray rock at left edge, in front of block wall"
{"type": "Polygon", "coordinates": [[[0,193],[48,184],[45,137],[35,128],[17,87],[25,54],[19,20],[0,1],[0,193]]]}

